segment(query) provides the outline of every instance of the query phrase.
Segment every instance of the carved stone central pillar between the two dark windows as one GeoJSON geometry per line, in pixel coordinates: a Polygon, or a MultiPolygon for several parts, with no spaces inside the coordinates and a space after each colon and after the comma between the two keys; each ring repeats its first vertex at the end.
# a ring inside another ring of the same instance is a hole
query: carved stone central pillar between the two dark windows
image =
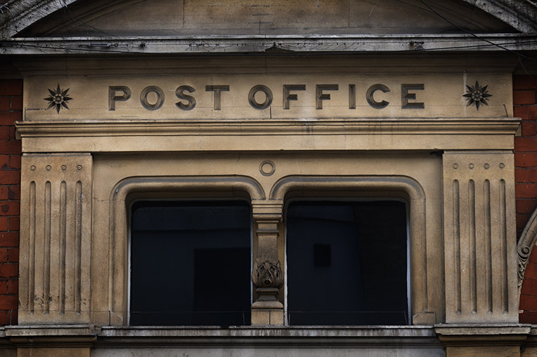
{"type": "Polygon", "coordinates": [[[252,304],[252,325],[283,325],[283,304],[277,299],[283,285],[283,271],[278,259],[278,226],[282,220],[281,204],[253,204],[257,224],[257,256],[252,282],[258,299],[252,304]]]}

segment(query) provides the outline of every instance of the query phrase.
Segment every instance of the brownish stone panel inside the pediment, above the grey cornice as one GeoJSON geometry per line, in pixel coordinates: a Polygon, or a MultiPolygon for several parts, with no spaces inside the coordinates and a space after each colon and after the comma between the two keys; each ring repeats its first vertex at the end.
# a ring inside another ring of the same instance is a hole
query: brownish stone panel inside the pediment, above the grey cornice
{"type": "Polygon", "coordinates": [[[79,0],[32,22],[16,36],[519,32],[512,23],[500,20],[501,16],[491,15],[468,2],[470,1],[427,0],[424,3],[420,0],[79,0]]]}

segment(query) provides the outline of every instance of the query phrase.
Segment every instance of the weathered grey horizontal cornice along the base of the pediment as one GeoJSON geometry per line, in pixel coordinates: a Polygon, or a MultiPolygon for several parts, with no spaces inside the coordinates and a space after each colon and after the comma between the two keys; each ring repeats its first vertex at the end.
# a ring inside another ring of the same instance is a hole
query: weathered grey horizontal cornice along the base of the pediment
{"type": "Polygon", "coordinates": [[[536,34],[382,34],[280,36],[137,36],[12,38],[3,55],[202,53],[422,53],[431,51],[537,50],[536,34]],[[491,44],[494,43],[494,44],[491,44]],[[498,46],[495,46],[498,45],[498,46]],[[501,46],[501,47],[500,47],[501,46]]]}

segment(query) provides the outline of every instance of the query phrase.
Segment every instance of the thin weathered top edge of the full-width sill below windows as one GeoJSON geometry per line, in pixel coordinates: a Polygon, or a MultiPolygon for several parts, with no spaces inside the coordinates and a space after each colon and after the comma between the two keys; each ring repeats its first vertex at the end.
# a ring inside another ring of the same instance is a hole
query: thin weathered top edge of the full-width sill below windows
{"type": "Polygon", "coordinates": [[[11,325],[0,337],[436,337],[436,335],[537,335],[529,324],[439,324],[367,326],[96,326],[11,325]]]}

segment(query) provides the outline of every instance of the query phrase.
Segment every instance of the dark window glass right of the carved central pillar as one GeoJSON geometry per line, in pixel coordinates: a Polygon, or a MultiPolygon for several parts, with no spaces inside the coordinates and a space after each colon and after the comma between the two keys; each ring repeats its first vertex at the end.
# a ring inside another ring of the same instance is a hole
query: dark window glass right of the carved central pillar
{"type": "Polygon", "coordinates": [[[287,208],[290,325],[406,325],[406,204],[299,201],[287,208]]]}

